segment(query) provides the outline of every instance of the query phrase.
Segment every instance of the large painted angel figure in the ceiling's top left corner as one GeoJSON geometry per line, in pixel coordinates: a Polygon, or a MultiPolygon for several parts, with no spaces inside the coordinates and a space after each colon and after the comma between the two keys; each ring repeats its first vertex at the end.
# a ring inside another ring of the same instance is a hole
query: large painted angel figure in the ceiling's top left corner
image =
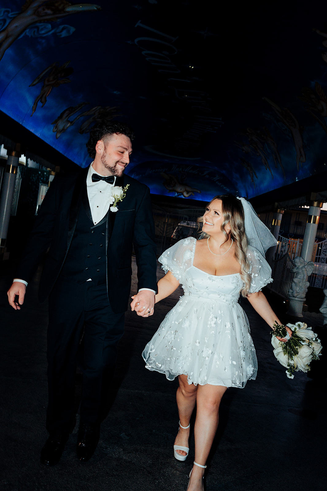
{"type": "Polygon", "coordinates": [[[0,32],[0,60],[5,51],[32,24],[39,22],[54,22],[61,17],[85,10],[100,10],[99,5],[92,3],[71,4],[66,0],[27,0],[22,6],[22,12],[9,22],[0,32]]]}

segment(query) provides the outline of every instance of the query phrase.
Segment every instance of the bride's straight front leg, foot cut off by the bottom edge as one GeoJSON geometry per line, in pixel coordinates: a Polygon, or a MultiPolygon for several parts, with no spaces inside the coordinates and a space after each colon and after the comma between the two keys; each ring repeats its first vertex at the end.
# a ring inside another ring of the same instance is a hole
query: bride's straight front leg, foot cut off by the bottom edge
{"type": "MultiPolygon", "coordinates": [[[[227,387],[221,385],[198,385],[196,394],[196,419],[194,426],[195,458],[197,464],[205,465],[218,427],[218,411],[221,398],[227,387]]],[[[202,491],[204,469],[193,465],[187,491],[202,491]]]]}

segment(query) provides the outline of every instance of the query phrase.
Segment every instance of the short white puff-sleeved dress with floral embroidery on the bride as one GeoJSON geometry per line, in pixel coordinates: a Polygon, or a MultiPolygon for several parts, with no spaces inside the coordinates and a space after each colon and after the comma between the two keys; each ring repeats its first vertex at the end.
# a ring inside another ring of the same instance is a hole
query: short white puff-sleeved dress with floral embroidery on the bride
{"type": "MultiPolygon", "coordinates": [[[[214,276],[193,266],[196,239],[188,237],[167,249],[159,261],[182,284],[185,295],[168,312],[146,345],[146,368],[168,380],[181,374],[194,384],[244,387],[255,379],[257,358],[244,310],[238,303],[243,282],[239,273],[214,276]]],[[[250,293],[270,283],[271,269],[248,247],[250,293]]]]}

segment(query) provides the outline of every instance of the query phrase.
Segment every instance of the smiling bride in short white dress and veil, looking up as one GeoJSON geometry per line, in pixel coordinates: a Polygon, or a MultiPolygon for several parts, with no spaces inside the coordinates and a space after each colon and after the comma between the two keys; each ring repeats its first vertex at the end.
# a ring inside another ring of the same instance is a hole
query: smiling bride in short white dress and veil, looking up
{"type": "Polygon", "coordinates": [[[168,380],[178,376],[180,422],[174,456],[179,461],[189,453],[196,403],[195,461],[187,491],[204,489],[206,461],[227,387],[244,387],[256,377],[257,359],[247,317],[238,303],[240,293],[271,328],[280,324],[261,292],[273,281],[264,254],[276,241],[251,205],[244,198],[219,195],[199,221],[200,240],[183,239],[159,258],[166,274],[158,282],[156,302],[180,284],[185,295],[142,354],[147,369],[164,373],[168,380]]]}

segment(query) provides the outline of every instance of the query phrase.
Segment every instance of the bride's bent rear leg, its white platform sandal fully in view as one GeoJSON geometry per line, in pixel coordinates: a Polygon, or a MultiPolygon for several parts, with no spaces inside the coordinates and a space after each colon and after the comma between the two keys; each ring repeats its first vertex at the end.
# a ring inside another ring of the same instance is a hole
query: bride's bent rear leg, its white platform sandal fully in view
{"type": "MultiPolygon", "coordinates": [[[[194,384],[189,385],[186,375],[179,375],[178,381],[179,387],[176,393],[176,401],[179,419],[182,426],[188,426],[196,402],[197,386],[194,384]]],[[[180,427],[174,445],[188,447],[189,436],[190,428],[183,429],[180,427]]],[[[186,455],[186,452],[184,452],[183,450],[176,450],[176,453],[180,455],[186,455]]]]}

